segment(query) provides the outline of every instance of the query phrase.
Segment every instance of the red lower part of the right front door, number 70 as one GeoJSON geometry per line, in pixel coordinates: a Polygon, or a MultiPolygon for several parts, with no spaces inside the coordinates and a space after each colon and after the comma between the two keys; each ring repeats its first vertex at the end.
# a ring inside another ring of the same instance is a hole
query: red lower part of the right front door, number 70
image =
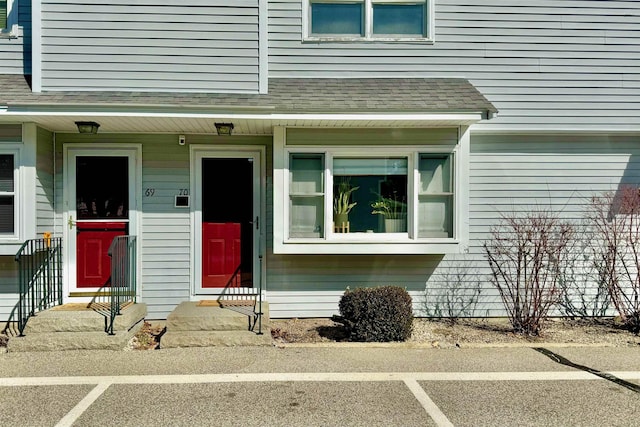
{"type": "Polygon", "coordinates": [[[202,224],[202,287],[240,287],[240,224],[202,224]]]}

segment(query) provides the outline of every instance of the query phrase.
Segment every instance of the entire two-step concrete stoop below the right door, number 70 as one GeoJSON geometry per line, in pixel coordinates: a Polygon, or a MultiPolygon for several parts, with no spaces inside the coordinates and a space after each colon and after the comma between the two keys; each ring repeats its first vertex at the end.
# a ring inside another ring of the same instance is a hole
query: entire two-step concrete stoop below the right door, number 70
{"type": "Polygon", "coordinates": [[[269,305],[263,302],[262,335],[258,325],[249,330],[249,316],[231,308],[199,306],[198,302],[180,303],[167,316],[167,331],[160,348],[232,347],[272,345],[269,329],[269,305]]]}

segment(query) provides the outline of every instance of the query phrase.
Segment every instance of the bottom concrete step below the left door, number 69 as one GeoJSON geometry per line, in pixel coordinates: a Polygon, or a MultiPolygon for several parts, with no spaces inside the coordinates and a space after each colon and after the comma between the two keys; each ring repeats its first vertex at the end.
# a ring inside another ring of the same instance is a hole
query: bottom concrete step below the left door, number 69
{"type": "Polygon", "coordinates": [[[117,331],[115,335],[101,332],[43,332],[24,337],[11,338],[9,352],[60,351],[60,350],[123,350],[129,340],[140,330],[144,322],[139,321],[128,331],[117,331]]]}

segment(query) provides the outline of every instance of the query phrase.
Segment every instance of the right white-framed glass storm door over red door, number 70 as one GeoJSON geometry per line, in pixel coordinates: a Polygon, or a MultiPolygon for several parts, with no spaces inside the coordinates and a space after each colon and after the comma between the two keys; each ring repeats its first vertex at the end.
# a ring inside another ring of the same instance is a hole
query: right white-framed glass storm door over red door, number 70
{"type": "Polygon", "coordinates": [[[232,294],[260,280],[260,152],[196,152],[195,283],[232,294]]]}

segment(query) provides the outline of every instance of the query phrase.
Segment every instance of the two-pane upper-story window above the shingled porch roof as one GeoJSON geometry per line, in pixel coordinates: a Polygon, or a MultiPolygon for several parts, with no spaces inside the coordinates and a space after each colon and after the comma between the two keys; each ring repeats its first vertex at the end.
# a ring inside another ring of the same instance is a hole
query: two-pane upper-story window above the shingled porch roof
{"type": "Polygon", "coordinates": [[[429,41],[432,0],[308,0],[308,40],[429,41]]]}

